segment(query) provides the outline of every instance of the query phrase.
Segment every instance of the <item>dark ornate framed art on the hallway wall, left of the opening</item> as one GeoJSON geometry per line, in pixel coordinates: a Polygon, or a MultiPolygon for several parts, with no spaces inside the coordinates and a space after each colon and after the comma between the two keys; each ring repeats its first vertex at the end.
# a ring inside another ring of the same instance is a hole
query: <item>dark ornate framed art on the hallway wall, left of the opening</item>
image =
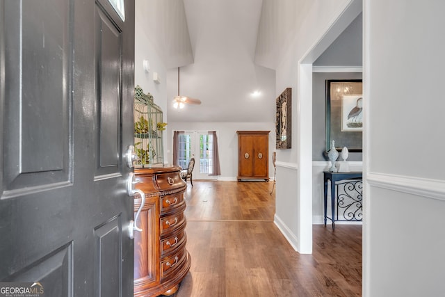
{"type": "Polygon", "coordinates": [[[286,88],[275,99],[275,140],[277,149],[290,149],[292,147],[292,88],[286,88]]]}

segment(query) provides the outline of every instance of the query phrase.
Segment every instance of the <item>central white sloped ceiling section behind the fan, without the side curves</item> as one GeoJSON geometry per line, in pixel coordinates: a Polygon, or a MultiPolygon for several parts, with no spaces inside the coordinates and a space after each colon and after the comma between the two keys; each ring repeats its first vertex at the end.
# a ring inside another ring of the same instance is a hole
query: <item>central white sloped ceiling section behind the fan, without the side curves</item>
{"type": "MultiPolygon", "coordinates": [[[[169,122],[275,121],[275,70],[254,63],[262,3],[184,0],[193,63],[177,62],[180,95],[202,104],[180,111],[168,104],[169,122]],[[254,97],[256,90],[260,95],[254,97]]],[[[172,99],[178,92],[177,67],[168,70],[166,83],[172,99]]]]}

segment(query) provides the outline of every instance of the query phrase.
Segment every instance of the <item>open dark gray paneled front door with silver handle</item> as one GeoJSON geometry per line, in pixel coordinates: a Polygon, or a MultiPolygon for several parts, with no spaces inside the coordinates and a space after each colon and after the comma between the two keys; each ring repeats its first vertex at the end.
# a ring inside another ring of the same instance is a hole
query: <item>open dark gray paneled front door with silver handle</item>
{"type": "Polygon", "coordinates": [[[0,282],[132,296],[134,1],[0,0],[0,282]],[[119,2],[119,1],[118,1],[119,2]]]}

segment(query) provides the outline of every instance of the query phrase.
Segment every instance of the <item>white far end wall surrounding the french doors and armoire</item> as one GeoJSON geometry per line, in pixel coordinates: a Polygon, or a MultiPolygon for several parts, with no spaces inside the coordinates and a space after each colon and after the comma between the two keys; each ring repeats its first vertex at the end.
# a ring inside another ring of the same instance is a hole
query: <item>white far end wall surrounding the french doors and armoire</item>
{"type": "Polygon", "coordinates": [[[273,178],[272,152],[275,150],[274,122],[181,122],[168,123],[164,134],[168,138],[168,152],[165,159],[172,162],[172,131],[217,131],[221,175],[218,180],[237,180],[238,175],[238,130],[270,131],[269,134],[269,176],[273,178]]]}

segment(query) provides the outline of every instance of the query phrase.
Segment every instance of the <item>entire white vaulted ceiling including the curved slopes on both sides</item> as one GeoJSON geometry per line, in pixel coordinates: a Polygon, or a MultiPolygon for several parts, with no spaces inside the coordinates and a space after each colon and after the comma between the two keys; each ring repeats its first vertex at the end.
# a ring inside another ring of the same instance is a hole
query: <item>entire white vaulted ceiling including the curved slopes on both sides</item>
{"type": "Polygon", "coordinates": [[[169,122],[274,122],[275,65],[305,0],[149,0],[154,47],[168,67],[167,97],[198,98],[169,122]],[[289,9],[290,8],[290,9],[289,9]],[[277,22],[280,20],[280,22],[277,22]],[[259,95],[253,95],[257,91],[259,95]]]}

